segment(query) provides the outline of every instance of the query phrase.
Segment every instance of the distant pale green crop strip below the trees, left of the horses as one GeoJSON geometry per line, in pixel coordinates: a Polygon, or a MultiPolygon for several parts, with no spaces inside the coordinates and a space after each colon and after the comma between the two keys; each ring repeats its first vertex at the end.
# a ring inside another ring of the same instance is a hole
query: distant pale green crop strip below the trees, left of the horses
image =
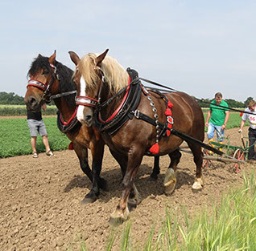
{"type": "MultiPolygon", "coordinates": [[[[43,115],[56,115],[56,106],[47,106],[46,111],[42,111],[43,115]]],[[[1,104],[0,105],[0,116],[21,116],[27,115],[26,105],[10,105],[1,104]]]]}

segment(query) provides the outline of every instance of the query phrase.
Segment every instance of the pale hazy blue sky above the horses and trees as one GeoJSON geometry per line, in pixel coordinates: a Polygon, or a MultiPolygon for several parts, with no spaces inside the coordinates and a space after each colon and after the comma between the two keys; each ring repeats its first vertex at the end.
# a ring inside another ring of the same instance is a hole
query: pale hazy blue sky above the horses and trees
{"type": "MultiPolygon", "coordinates": [[[[0,0],[0,91],[24,96],[41,54],[74,70],[109,48],[140,77],[196,98],[256,98],[254,0],[0,0]]],[[[147,85],[145,83],[145,85],[147,85]]]]}

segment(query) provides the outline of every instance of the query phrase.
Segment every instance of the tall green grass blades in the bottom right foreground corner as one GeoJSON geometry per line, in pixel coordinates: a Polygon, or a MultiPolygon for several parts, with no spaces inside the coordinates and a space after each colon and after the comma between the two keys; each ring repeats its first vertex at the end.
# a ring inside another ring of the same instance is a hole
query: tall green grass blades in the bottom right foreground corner
{"type": "MultiPolygon", "coordinates": [[[[171,210],[170,210],[171,211],[171,210]]],[[[132,243],[131,223],[124,226],[121,250],[170,250],[170,251],[245,251],[256,250],[256,181],[255,173],[244,174],[241,188],[230,190],[222,196],[220,206],[213,203],[199,216],[189,219],[183,208],[184,223],[177,221],[167,209],[166,220],[153,241],[155,229],[148,234],[147,241],[132,243]],[[127,245],[129,244],[129,245],[127,245]]],[[[112,235],[113,236],[113,235],[112,235]]],[[[109,242],[111,250],[115,237],[109,242]]]]}

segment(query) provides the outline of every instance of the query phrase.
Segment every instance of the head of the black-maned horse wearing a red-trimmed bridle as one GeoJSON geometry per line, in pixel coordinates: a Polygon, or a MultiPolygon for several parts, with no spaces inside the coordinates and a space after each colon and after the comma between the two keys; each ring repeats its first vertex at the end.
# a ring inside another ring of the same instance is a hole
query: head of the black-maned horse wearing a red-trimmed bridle
{"type": "Polygon", "coordinates": [[[47,99],[49,92],[55,94],[59,91],[58,76],[56,75],[56,51],[50,58],[38,55],[31,63],[28,71],[29,81],[25,95],[25,103],[29,110],[39,110],[47,99]]]}

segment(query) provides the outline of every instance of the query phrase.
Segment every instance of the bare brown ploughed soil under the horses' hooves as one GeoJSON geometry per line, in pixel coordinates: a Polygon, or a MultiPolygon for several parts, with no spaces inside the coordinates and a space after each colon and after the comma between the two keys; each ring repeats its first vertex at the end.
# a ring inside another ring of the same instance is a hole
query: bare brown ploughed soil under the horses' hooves
{"type": "MultiPolygon", "coordinates": [[[[231,144],[242,144],[237,128],[227,130],[225,135],[229,135],[231,144]]],[[[43,153],[38,159],[18,156],[0,163],[0,250],[79,250],[79,237],[85,240],[88,250],[105,250],[112,229],[109,215],[122,193],[120,168],[107,148],[102,177],[108,180],[109,191],[101,192],[99,199],[89,205],[80,203],[91,184],[73,151],[56,152],[53,157],[43,153]]],[[[218,204],[222,192],[242,183],[242,173],[235,174],[230,164],[216,163],[203,172],[204,189],[193,193],[195,164],[192,155],[183,153],[175,192],[165,196],[163,179],[169,158],[160,158],[157,181],[149,177],[152,165],[153,158],[144,157],[136,180],[142,203],[130,213],[130,235],[137,246],[145,243],[152,225],[159,229],[167,206],[182,219],[181,205],[193,215],[211,205],[211,200],[218,204]]],[[[243,168],[249,172],[253,164],[243,168]]],[[[123,226],[116,228],[116,233],[122,235],[123,226]]],[[[118,238],[114,250],[119,250],[120,245],[118,238]]]]}

